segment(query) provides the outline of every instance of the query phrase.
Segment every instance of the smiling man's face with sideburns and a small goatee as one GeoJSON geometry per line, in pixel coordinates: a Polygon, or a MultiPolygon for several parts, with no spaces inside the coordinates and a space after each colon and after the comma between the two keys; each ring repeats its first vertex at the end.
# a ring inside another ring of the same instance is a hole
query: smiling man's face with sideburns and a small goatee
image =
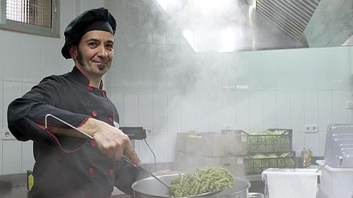
{"type": "Polygon", "coordinates": [[[102,77],[111,66],[114,56],[114,36],[93,30],[84,34],[78,44],[76,57],[80,69],[89,76],[102,77]]]}

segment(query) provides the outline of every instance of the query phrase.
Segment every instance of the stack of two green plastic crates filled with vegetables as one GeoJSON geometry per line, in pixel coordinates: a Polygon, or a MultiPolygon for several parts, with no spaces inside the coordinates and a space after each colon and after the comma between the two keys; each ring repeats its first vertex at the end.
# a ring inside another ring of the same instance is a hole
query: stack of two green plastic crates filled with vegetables
{"type": "Polygon", "coordinates": [[[267,168],[293,168],[296,157],[292,150],[292,129],[267,129],[261,134],[248,134],[246,174],[261,174],[267,168]],[[266,133],[268,132],[268,133],[266,133]]]}

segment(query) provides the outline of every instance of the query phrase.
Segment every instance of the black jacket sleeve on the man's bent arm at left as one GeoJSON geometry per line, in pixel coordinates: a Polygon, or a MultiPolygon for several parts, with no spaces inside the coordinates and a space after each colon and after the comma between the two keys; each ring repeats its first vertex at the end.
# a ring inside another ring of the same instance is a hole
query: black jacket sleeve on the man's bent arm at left
{"type": "MultiPolygon", "coordinates": [[[[75,114],[60,108],[64,83],[54,75],[44,78],[21,98],[13,100],[8,106],[8,128],[19,141],[33,140],[39,143],[55,143],[53,134],[39,127],[44,125],[46,114],[57,116],[71,125],[78,126],[89,116],[75,114]]],[[[63,123],[48,118],[48,125],[66,127],[63,123]]]]}

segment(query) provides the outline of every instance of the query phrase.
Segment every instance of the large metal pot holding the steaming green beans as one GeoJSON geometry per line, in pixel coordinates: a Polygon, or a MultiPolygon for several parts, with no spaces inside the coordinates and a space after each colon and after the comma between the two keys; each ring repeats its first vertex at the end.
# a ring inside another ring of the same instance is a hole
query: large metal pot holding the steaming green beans
{"type": "MultiPolygon", "coordinates": [[[[165,183],[170,184],[170,182],[178,177],[178,174],[167,174],[159,176],[159,179],[163,180],[165,183]]],[[[210,197],[219,198],[249,198],[248,188],[251,184],[239,177],[234,178],[233,188],[226,189],[217,195],[212,195],[210,197]]],[[[135,198],[165,198],[170,196],[167,195],[168,189],[163,186],[163,184],[156,181],[153,177],[146,179],[141,179],[132,184],[132,189],[134,189],[135,198]]]]}

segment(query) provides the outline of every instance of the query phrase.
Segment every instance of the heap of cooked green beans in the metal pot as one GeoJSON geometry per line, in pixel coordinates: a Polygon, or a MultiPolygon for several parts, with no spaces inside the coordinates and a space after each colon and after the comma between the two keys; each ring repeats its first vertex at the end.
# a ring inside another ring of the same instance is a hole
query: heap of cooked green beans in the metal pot
{"type": "Polygon", "coordinates": [[[232,187],[233,176],[225,168],[198,167],[187,174],[179,174],[179,177],[170,183],[172,191],[169,195],[187,197],[232,187]]]}

